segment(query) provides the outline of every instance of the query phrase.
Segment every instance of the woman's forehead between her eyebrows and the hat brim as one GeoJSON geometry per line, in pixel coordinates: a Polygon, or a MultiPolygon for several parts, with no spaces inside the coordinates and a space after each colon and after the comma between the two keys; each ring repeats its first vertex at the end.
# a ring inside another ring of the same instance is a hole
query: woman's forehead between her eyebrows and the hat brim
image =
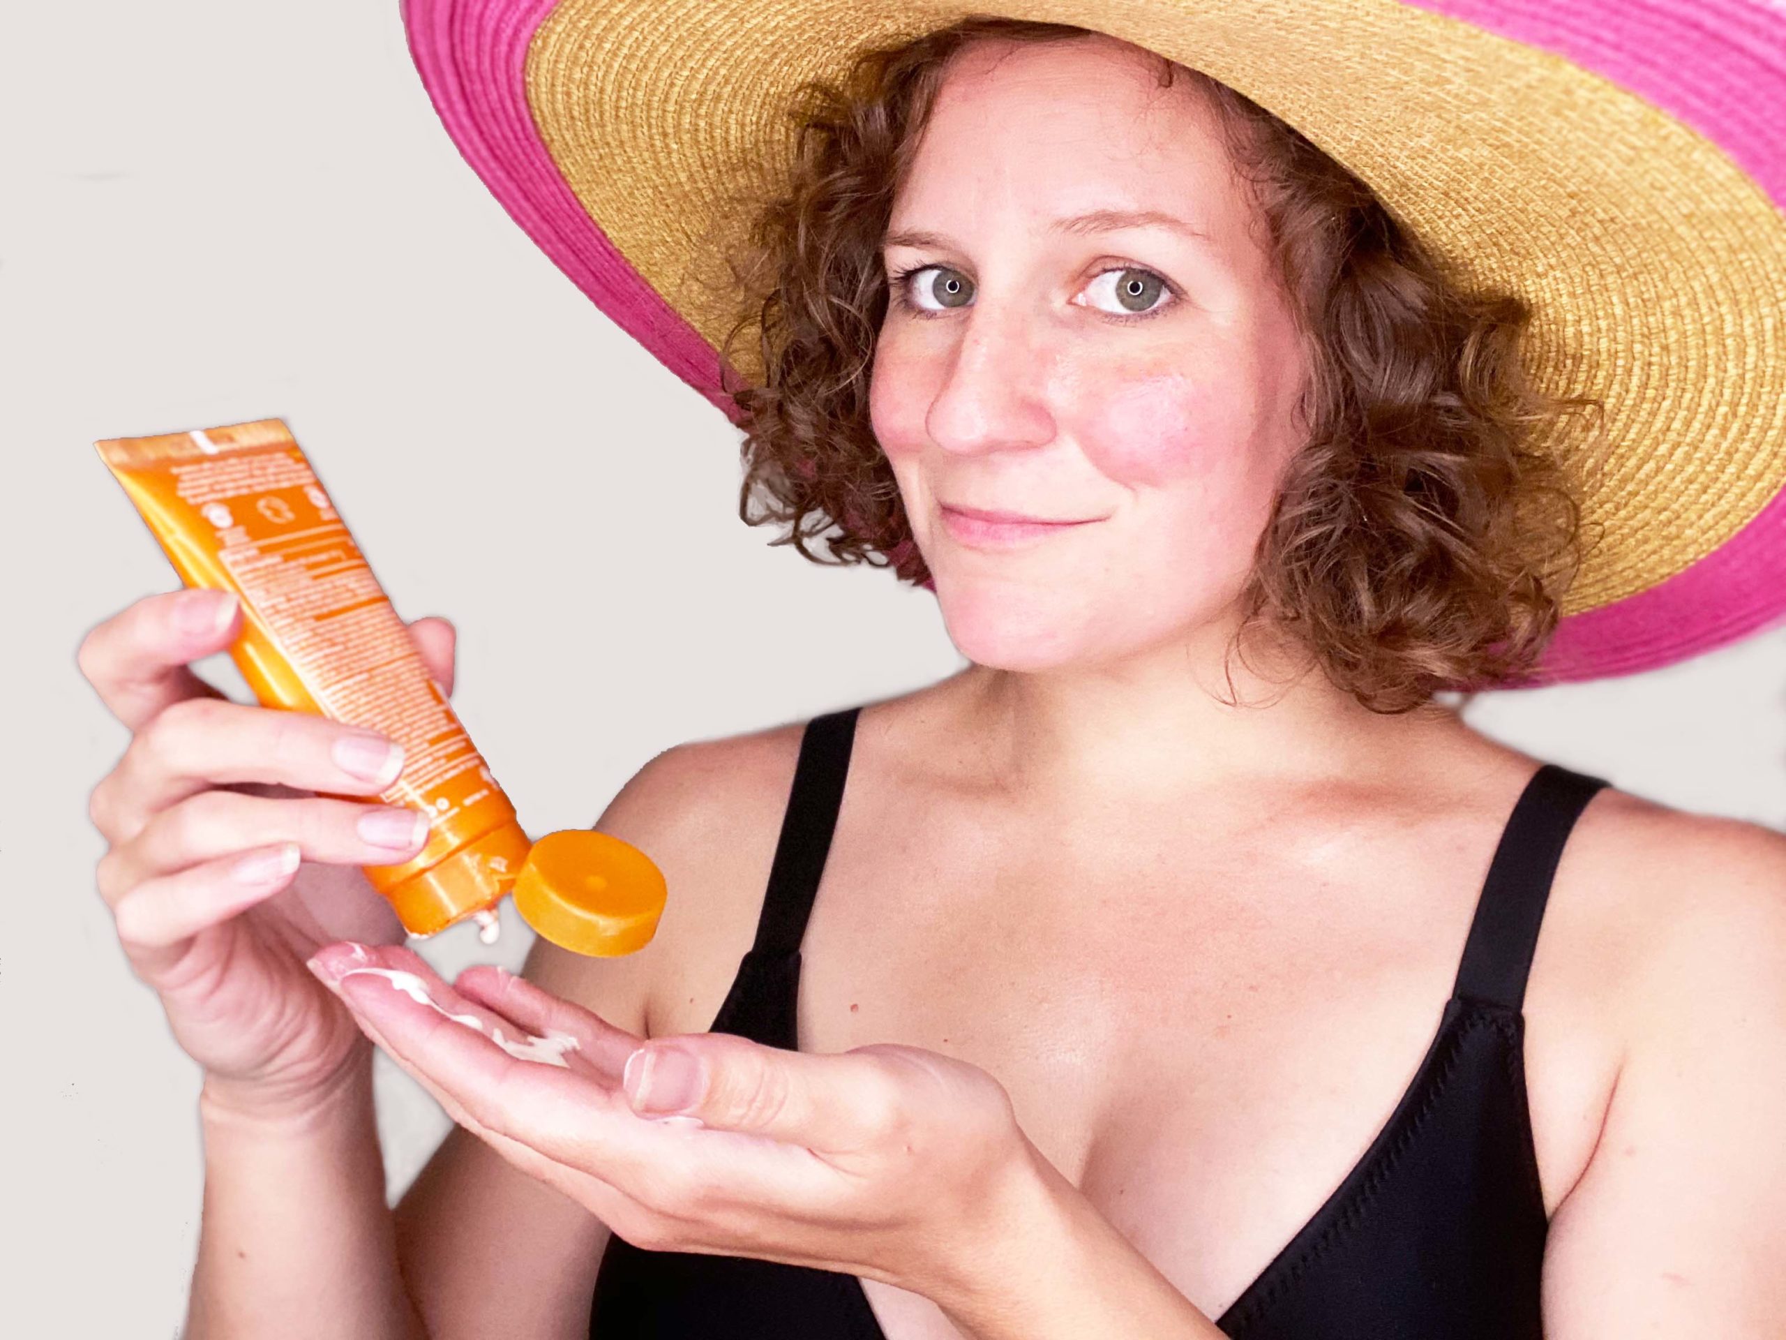
{"type": "Polygon", "coordinates": [[[1159,209],[1218,236],[1243,229],[1214,109],[1182,73],[1159,80],[1161,57],[1102,34],[975,41],[943,71],[893,227],[1159,209]]]}

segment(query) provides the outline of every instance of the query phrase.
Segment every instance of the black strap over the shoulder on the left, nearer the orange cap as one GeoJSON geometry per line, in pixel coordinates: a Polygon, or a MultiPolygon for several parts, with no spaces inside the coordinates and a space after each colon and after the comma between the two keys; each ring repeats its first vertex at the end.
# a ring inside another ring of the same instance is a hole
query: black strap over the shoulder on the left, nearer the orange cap
{"type": "Polygon", "coordinates": [[[800,759],[793,768],[788,811],[752,945],[755,954],[793,954],[800,949],[843,804],[857,713],[859,706],[814,716],[800,736],[800,759]]]}

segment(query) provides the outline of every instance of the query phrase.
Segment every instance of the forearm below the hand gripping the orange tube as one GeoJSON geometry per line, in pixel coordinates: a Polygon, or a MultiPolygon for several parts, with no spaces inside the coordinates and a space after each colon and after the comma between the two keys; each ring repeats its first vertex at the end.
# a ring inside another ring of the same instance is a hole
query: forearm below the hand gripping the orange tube
{"type": "Polygon", "coordinates": [[[370,1051],[304,1113],[207,1083],[188,1340],[423,1340],[396,1269],[370,1051]]]}

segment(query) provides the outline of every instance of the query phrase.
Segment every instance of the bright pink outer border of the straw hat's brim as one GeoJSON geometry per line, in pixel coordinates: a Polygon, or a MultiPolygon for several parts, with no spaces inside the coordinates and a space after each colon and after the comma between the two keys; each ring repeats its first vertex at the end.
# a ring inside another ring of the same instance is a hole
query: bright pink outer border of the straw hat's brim
{"type": "MultiPolygon", "coordinates": [[[[1766,0],[1404,0],[1573,61],[1716,143],[1786,211],[1781,16],[1766,0]],[[1641,38],[1634,36],[1641,32],[1641,38]],[[1740,91],[1740,96],[1738,96],[1740,91]]],[[[557,0],[402,0],[441,123],[527,236],[597,307],[736,422],[707,341],[639,277],[559,175],[527,105],[527,46],[557,0]]],[[[1565,618],[1540,668],[1497,688],[1652,670],[1786,618],[1786,490],[1690,568],[1565,618]]]]}

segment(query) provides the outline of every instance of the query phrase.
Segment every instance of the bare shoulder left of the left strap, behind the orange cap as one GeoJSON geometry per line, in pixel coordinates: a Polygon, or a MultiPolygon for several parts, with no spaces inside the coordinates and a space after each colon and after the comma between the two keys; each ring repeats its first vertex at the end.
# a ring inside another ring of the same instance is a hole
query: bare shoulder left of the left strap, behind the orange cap
{"type": "MultiPolygon", "coordinates": [[[[641,1036],[663,1036],[663,990],[730,949],[748,949],[805,722],[673,745],[641,766],[595,822],[664,874],[657,934],[623,958],[582,958],[543,940],[527,976],[641,1036]]],[[[680,1026],[670,1031],[698,1031],[680,1026]]]]}

